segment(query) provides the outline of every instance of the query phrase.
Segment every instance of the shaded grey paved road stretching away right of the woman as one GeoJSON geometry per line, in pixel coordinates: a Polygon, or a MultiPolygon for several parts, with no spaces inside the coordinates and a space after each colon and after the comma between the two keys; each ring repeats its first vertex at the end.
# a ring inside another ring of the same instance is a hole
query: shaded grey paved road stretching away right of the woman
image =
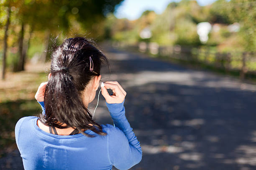
{"type": "MultiPolygon", "coordinates": [[[[117,80],[127,92],[126,116],[143,149],[132,170],[256,169],[256,85],[138,53],[103,50],[111,75],[102,78],[117,80]]],[[[95,118],[111,124],[103,99],[95,118]]]]}

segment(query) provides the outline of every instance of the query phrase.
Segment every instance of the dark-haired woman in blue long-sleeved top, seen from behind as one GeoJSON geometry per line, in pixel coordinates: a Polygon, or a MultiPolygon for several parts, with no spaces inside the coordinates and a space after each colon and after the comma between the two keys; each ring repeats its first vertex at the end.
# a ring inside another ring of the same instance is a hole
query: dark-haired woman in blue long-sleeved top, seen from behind
{"type": "Polygon", "coordinates": [[[15,126],[25,170],[111,170],[113,165],[124,170],[141,161],[140,143],[125,117],[126,92],[118,82],[101,87],[114,126],[97,124],[87,109],[104,60],[108,63],[84,37],[69,38],[55,48],[49,81],[35,95],[43,112],[22,117],[15,126]]]}

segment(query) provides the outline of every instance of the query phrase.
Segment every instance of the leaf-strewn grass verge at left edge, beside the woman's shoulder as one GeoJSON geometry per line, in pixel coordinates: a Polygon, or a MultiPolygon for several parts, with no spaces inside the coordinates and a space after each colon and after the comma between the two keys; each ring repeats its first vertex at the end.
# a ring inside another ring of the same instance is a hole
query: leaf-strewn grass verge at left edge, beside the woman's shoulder
{"type": "Polygon", "coordinates": [[[25,71],[7,72],[0,80],[0,157],[15,149],[15,124],[25,116],[37,115],[41,107],[35,94],[47,81],[47,64],[27,64],[25,71]]]}

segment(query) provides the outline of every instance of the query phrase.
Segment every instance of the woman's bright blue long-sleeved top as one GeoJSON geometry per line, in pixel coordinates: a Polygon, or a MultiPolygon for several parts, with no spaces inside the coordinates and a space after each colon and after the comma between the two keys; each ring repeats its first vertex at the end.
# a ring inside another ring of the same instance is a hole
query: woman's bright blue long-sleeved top
{"type": "MultiPolygon", "coordinates": [[[[44,102],[38,102],[45,113],[44,102]]],[[[55,135],[41,130],[37,117],[22,117],[15,126],[15,139],[25,170],[111,170],[114,165],[127,170],[141,161],[142,150],[125,117],[122,103],[106,102],[115,123],[101,125],[108,135],[89,138],[76,135],[55,135]]],[[[39,120],[38,120],[39,121],[39,120]]]]}

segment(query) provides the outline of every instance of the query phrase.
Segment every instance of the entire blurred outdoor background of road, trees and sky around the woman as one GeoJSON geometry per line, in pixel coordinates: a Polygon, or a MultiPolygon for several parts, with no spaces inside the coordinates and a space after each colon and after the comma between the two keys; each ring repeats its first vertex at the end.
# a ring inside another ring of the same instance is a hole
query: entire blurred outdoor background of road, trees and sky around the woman
{"type": "MultiPolygon", "coordinates": [[[[23,169],[15,124],[41,112],[57,36],[110,59],[143,150],[131,169],[256,169],[255,0],[0,0],[0,169],[23,169]]],[[[112,122],[102,95],[95,118],[112,122]]]]}

